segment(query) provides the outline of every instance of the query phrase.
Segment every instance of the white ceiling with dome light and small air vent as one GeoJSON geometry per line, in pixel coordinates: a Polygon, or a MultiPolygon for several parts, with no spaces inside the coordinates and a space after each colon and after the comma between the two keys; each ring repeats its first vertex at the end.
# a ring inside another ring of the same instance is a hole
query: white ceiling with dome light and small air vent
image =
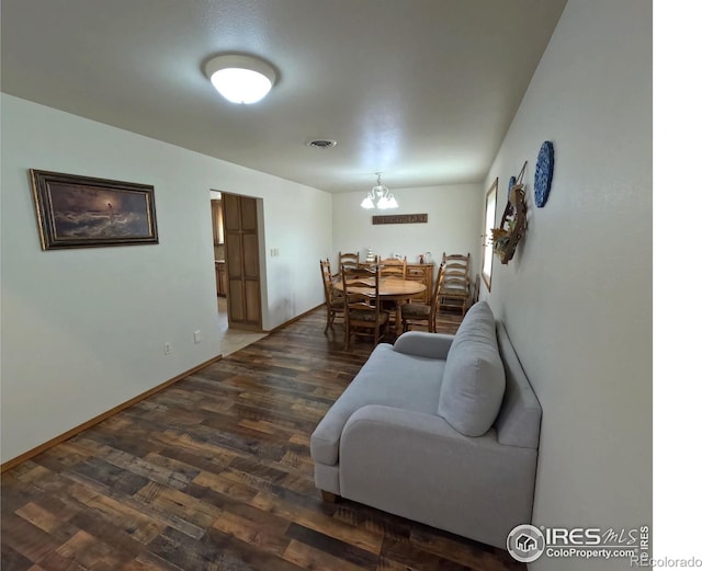
{"type": "Polygon", "coordinates": [[[565,3],[2,0],[2,91],[329,192],[483,182],[565,3]],[[228,52],[260,103],[208,83],[228,52]]]}

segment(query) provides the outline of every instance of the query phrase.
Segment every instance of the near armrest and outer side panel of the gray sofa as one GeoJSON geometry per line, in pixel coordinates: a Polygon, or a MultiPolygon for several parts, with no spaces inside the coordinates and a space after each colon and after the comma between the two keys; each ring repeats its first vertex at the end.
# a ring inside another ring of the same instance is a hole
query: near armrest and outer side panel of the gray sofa
{"type": "Polygon", "coordinates": [[[464,436],[442,418],[370,404],[341,435],[343,498],[489,545],[531,521],[535,448],[506,446],[494,429],[464,436]]]}

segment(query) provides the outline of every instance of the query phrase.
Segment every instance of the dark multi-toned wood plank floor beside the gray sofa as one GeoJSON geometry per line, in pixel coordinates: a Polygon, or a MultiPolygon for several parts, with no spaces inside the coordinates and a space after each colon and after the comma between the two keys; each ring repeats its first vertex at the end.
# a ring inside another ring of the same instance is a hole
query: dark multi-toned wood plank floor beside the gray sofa
{"type": "MultiPolygon", "coordinates": [[[[440,316],[440,332],[460,319],[440,316]]],[[[324,327],[314,311],[7,471],[2,570],[524,569],[499,549],[321,502],[309,435],[371,351],[342,351],[341,326],[324,327]]]]}

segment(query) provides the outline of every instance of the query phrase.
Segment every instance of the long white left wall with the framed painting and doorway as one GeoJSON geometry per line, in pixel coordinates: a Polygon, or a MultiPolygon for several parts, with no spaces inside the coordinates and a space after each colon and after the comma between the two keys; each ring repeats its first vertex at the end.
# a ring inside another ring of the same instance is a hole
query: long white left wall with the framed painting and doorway
{"type": "Polygon", "coordinates": [[[2,461],[219,353],[211,189],[262,201],[280,251],[264,329],[324,301],[328,193],[5,94],[0,110],[2,461]],[[42,251],[31,168],[152,184],[159,243],[42,251]]]}

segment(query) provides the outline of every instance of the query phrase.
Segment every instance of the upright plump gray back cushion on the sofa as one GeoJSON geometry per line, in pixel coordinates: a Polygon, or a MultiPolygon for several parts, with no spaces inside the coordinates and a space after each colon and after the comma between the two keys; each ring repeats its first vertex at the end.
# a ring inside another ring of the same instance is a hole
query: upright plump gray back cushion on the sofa
{"type": "Polygon", "coordinates": [[[495,423],[505,393],[505,368],[495,317],[487,301],[473,305],[446,355],[439,415],[466,436],[482,436],[495,423]]]}

